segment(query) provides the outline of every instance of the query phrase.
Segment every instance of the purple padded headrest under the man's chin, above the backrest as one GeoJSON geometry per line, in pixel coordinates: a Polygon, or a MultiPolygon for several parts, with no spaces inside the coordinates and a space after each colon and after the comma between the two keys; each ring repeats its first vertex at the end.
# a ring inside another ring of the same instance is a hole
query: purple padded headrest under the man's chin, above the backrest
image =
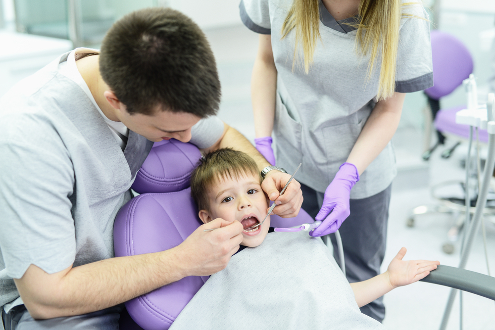
{"type": "Polygon", "coordinates": [[[155,142],[132,185],[138,193],[178,191],[189,187],[201,158],[197,146],[175,139],[155,142]]]}

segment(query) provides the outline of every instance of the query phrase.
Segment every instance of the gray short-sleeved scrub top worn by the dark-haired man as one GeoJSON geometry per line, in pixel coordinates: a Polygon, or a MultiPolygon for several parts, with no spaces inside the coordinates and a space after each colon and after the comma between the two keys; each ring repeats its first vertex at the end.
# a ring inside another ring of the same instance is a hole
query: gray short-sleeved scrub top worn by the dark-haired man
{"type": "MultiPolygon", "coordinates": [[[[6,312],[22,304],[12,279],[31,264],[53,274],[114,257],[115,216],[131,199],[129,188],[152,145],[131,131],[120,148],[89,95],[61,74],[68,56],[0,98],[0,308],[6,312]]],[[[205,118],[193,127],[191,142],[207,148],[223,130],[218,117],[205,118]]]]}

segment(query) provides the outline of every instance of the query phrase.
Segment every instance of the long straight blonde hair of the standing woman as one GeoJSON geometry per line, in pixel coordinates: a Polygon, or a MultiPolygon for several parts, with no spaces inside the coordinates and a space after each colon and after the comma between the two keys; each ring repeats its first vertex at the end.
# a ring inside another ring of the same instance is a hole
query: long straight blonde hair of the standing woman
{"type": "MultiPolygon", "coordinates": [[[[409,3],[403,5],[406,4],[409,3]]],[[[355,45],[357,53],[366,55],[368,51],[370,52],[368,81],[381,54],[377,95],[379,100],[392,96],[395,91],[396,57],[401,16],[399,0],[361,0],[358,8],[360,21],[349,24],[357,27],[355,45]]],[[[298,58],[298,45],[301,44],[305,73],[309,72],[309,67],[313,62],[316,42],[321,39],[318,28],[319,22],[318,0],[294,0],[282,25],[282,38],[296,29],[293,65],[298,58]]]]}

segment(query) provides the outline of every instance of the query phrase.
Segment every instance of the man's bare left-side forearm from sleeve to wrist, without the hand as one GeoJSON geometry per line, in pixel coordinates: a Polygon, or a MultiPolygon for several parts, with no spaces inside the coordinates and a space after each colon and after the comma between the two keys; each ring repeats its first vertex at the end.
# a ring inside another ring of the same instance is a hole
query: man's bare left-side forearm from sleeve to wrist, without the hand
{"type": "Polygon", "coordinates": [[[31,265],[21,279],[14,281],[34,319],[81,315],[183,278],[175,252],[110,258],[54,274],[31,265]]]}

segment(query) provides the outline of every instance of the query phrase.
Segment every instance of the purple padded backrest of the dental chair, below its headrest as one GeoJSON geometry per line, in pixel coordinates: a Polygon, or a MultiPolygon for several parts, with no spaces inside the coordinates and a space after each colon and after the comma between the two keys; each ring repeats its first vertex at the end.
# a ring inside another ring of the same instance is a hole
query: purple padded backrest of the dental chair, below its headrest
{"type": "MultiPolygon", "coordinates": [[[[115,256],[168,250],[200,225],[191,189],[145,193],[127,202],[113,228],[115,256]]],[[[129,300],[126,309],[143,329],[168,329],[208,277],[189,276],[129,300]]]]}

